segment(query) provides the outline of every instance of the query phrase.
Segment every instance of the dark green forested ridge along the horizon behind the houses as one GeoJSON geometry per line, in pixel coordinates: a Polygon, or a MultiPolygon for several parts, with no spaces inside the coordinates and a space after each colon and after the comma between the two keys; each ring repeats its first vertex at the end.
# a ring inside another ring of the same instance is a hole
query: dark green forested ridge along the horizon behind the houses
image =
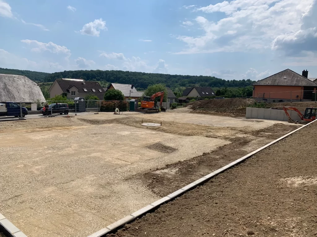
{"type": "Polygon", "coordinates": [[[57,78],[82,78],[87,81],[115,82],[133,84],[142,90],[149,85],[163,83],[170,88],[178,87],[246,87],[254,81],[247,80],[223,80],[214,76],[189,76],[170,75],[159,73],[130,72],[130,71],[102,71],[102,70],[76,70],[55,73],[36,72],[28,70],[3,69],[0,73],[25,75],[35,82],[54,82],[57,78]]]}

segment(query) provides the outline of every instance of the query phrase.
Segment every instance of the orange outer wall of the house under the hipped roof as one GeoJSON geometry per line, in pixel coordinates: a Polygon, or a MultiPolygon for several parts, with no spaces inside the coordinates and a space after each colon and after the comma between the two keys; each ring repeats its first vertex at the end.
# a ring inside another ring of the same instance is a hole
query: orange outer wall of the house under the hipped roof
{"type": "Polygon", "coordinates": [[[266,99],[268,102],[278,102],[277,100],[302,100],[303,87],[301,86],[254,86],[253,98],[257,101],[266,99]],[[264,94],[264,98],[263,98],[264,94]],[[275,101],[273,101],[275,100],[275,101]]]}

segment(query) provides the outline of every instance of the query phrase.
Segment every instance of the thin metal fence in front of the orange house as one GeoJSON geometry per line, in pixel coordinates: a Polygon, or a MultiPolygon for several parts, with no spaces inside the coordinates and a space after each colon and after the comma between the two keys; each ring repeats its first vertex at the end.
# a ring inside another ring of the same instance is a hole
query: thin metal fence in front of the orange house
{"type": "Polygon", "coordinates": [[[270,103],[276,102],[299,102],[299,101],[315,101],[316,90],[305,91],[281,91],[281,92],[265,92],[257,93],[253,99],[257,102],[265,101],[270,103]]]}

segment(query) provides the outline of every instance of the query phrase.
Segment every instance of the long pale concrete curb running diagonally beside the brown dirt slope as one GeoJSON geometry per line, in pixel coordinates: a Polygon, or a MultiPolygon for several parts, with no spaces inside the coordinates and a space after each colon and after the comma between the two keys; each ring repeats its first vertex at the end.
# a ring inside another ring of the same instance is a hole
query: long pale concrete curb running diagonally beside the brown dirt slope
{"type": "Polygon", "coordinates": [[[277,138],[273,142],[270,142],[270,143],[260,147],[259,149],[249,153],[248,155],[245,155],[245,156],[241,157],[240,159],[238,159],[236,161],[233,161],[230,164],[228,164],[228,165],[226,165],[226,166],[224,166],[224,167],[222,167],[220,169],[217,169],[216,171],[214,171],[214,172],[212,172],[210,174],[207,174],[207,175],[205,175],[204,177],[202,177],[200,179],[197,179],[196,181],[194,181],[194,182],[182,187],[181,189],[178,189],[177,191],[167,195],[166,197],[163,197],[163,198],[155,201],[154,203],[149,204],[146,207],[143,207],[142,209],[140,209],[140,210],[138,210],[138,211],[126,216],[126,217],[123,217],[119,221],[116,221],[116,222],[108,225],[106,228],[103,228],[103,229],[95,232],[94,234],[89,235],[88,237],[101,237],[101,236],[105,236],[106,234],[113,233],[115,230],[119,229],[120,227],[124,226],[125,224],[134,221],[138,217],[144,216],[146,213],[149,213],[149,212],[152,212],[153,210],[156,210],[163,203],[169,202],[169,201],[175,199],[176,197],[183,195],[185,192],[190,191],[191,189],[197,187],[198,185],[202,185],[203,183],[205,183],[205,182],[209,181],[210,179],[212,179],[217,174],[222,173],[222,172],[230,169],[231,167],[241,163],[242,161],[248,159],[252,155],[258,153],[259,151],[261,151],[261,150],[269,147],[270,145],[272,145],[272,144],[284,139],[285,137],[288,137],[289,135],[293,134],[294,132],[302,129],[303,127],[306,127],[307,125],[310,125],[311,123],[314,123],[315,121],[317,121],[317,119],[312,121],[312,122],[310,122],[310,123],[308,123],[308,124],[306,124],[306,125],[301,126],[298,129],[295,129],[294,131],[289,132],[288,134],[286,134],[286,135],[284,135],[284,136],[282,136],[280,138],[277,138]]]}

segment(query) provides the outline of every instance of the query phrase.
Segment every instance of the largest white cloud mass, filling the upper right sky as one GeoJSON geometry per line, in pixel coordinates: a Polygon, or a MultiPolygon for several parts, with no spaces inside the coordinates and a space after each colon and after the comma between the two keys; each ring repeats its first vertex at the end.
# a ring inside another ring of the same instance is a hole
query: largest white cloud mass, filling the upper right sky
{"type": "Polygon", "coordinates": [[[187,45],[178,54],[286,51],[294,44],[308,50],[304,42],[317,48],[317,44],[312,46],[317,37],[316,1],[233,0],[197,8],[198,13],[223,12],[225,16],[217,22],[209,21],[208,14],[197,16],[195,21],[203,33],[174,37],[187,45]]]}

